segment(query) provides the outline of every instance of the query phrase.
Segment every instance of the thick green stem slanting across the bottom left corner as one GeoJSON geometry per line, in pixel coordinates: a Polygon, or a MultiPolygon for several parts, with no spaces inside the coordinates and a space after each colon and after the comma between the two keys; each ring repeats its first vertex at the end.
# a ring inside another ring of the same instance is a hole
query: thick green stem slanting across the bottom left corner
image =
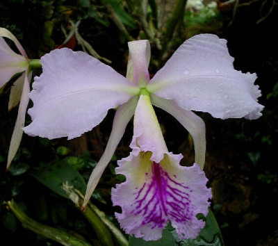
{"type": "Polygon", "coordinates": [[[13,201],[8,202],[8,207],[13,212],[15,217],[22,223],[22,227],[26,229],[29,229],[46,238],[54,240],[61,245],[90,246],[90,243],[85,241],[81,236],[73,236],[72,233],[67,233],[66,231],[49,227],[45,224],[40,224],[39,222],[32,220],[13,201]]]}

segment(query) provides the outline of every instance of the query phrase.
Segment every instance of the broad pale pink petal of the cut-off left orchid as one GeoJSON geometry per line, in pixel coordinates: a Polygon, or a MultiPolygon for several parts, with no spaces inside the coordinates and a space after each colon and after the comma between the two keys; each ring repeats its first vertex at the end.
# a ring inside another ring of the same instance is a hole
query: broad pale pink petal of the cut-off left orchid
{"type": "Polygon", "coordinates": [[[27,60],[10,49],[0,37],[0,88],[15,74],[24,72],[27,66],[27,60]]]}

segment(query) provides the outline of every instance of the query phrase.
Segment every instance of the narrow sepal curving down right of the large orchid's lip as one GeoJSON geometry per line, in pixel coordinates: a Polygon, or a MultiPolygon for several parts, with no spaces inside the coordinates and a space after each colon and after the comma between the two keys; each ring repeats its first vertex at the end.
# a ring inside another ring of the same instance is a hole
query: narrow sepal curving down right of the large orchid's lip
{"type": "Polygon", "coordinates": [[[194,142],[195,163],[203,169],[206,156],[206,126],[204,120],[192,111],[180,108],[173,100],[166,100],[155,95],[151,97],[155,106],[170,113],[188,130],[194,142]]]}

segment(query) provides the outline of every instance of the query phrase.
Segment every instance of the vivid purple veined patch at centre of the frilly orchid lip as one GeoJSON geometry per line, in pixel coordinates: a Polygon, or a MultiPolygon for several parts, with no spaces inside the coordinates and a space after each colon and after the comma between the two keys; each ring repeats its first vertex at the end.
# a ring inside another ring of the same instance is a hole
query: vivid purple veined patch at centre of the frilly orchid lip
{"type": "MultiPolygon", "coordinates": [[[[146,174],[146,177],[150,176],[146,174]]],[[[176,175],[173,175],[176,178],[176,175]]],[[[152,228],[165,227],[166,220],[186,222],[191,220],[190,188],[170,177],[160,163],[152,163],[152,177],[137,192],[132,213],[142,214],[142,225],[153,223],[152,228]],[[149,182],[148,182],[149,181],[149,182]]]]}

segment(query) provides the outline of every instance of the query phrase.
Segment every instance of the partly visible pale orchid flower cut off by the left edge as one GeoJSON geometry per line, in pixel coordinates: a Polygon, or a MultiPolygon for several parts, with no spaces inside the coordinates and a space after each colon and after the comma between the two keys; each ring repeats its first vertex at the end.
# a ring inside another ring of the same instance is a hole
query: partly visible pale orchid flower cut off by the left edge
{"type": "Polygon", "coordinates": [[[15,122],[15,129],[10,141],[7,169],[10,167],[10,163],[13,161],[22,140],[22,127],[25,122],[25,115],[29,101],[28,93],[30,92],[29,83],[32,76],[32,73],[28,71],[29,63],[30,60],[28,59],[26,52],[13,33],[10,33],[6,28],[0,28],[0,88],[10,81],[15,74],[23,72],[10,89],[8,109],[10,110],[17,106],[19,101],[20,104],[17,120],[15,122]],[[21,55],[10,49],[2,37],[12,40],[21,55]]]}

